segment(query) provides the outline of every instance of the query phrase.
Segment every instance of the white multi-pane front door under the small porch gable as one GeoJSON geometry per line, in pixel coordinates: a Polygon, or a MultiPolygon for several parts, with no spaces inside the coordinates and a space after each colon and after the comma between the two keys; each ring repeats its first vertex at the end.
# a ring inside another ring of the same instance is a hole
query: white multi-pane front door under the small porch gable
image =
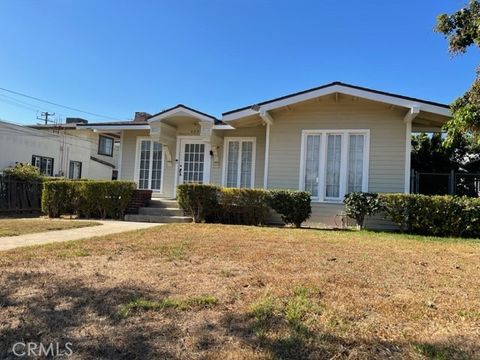
{"type": "Polygon", "coordinates": [[[202,140],[181,139],[178,184],[208,184],[210,146],[202,140]]]}

